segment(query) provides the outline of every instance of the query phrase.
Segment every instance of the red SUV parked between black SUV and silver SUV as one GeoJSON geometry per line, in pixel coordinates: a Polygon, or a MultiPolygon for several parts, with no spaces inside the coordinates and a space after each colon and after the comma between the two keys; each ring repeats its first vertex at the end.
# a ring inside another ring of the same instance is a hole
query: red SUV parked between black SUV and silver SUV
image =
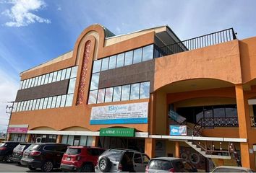
{"type": "Polygon", "coordinates": [[[90,146],[69,146],[62,157],[61,170],[67,172],[94,172],[98,156],[105,149],[90,146]]]}

